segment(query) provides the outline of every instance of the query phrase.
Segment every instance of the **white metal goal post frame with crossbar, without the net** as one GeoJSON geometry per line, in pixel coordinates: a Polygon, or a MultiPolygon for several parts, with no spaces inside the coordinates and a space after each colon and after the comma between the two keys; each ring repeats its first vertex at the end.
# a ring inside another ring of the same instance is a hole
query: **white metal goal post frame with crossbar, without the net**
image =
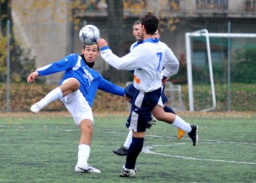
{"type": "Polygon", "coordinates": [[[193,78],[192,78],[192,54],[191,54],[191,45],[190,37],[205,37],[206,46],[207,46],[207,60],[209,65],[210,72],[210,85],[212,92],[212,107],[204,109],[202,111],[214,110],[216,107],[216,98],[215,98],[215,87],[212,74],[212,59],[210,51],[210,39],[209,37],[243,37],[243,38],[255,38],[256,34],[243,34],[243,33],[209,33],[207,29],[201,29],[196,32],[187,32],[185,34],[185,43],[186,43],[186,55],[187,55],[187,85],[188,85],[188,99],[190,111],[194,111],[194,98],[193,98],[193,78]]]}

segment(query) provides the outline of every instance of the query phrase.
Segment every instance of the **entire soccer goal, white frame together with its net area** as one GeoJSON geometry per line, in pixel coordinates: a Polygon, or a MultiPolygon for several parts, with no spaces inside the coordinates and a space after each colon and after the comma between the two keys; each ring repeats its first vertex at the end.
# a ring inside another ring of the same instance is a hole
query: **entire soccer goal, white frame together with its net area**
{"type": "Polygon", "coordinates": [[[235,100],[243,100],[243,93],[232,88],[256,83],[255,38],[256,34],[209,33],[207,29],[186,33],[190,111],[239,110],[235,100]]]}

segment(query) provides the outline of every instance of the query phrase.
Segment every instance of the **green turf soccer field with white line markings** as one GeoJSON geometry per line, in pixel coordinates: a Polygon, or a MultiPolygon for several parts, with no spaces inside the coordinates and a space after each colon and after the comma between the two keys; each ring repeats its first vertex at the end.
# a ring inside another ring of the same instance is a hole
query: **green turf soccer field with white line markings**
{"type": "Polygon", "coordinates": [[[246,112],[179,113],[199,126],[187,134],[158,122],[137,159],[138,174],[121,178],[119,148],[126,114],[94,115],[89,163],[102,173],[75,173],[80,131],[67,112],[0,113],[0,182],[256,182],[256,115],[246,112]]]}

